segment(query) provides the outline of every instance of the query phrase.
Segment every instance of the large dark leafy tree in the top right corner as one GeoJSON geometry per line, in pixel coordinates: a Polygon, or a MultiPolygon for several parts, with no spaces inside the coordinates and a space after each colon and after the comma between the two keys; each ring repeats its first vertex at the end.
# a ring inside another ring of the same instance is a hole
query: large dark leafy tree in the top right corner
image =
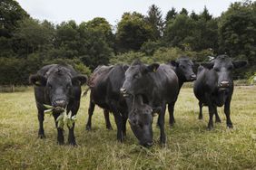
{"type": "Polygon", "coordinates": [[[220,52],[256,63],[256,2],[231,4],[219,23],[220,52]]]}

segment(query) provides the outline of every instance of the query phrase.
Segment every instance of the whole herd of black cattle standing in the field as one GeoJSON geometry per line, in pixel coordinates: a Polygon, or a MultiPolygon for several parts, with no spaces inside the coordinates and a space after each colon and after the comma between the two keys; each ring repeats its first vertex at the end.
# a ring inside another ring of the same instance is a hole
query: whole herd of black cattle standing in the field
{"type": "MultiPolygon", "coordinates": [[[[219,55],[214,60],[193,63],[188,57],[165,64],[144,64],[133,61],[129,65],[117,64],[98,66],[89,80],[78,74],[70,65],[52,64],[44,66],[30,76],[34,84],[34,96],[38,109],[38,136],[44,138],[44,104],[54,108],[54,119],[66,109],[76,115],[80,107],[81,85],[87,83],[90,93],[89,118],[86,129],[91,129],[91,119],[95,105],[103,109],[106,127],[112,129],[109,112],[113,113],[117,126],[117,139],[123,142],[128,119],[133,134],[140,145],[153,145],[153,116],[158,113],[157,125],[160,128],[160,142],[165,144],[164,115],[166,106],[170,114],[169,123],[174,119],[174,105],[182,84],[194,82],[194,95],[199,100],[202,118],[202,106],[209,108],[208,128],[213,127],[212,117],[221,122],[217,107],[224,105],[227,127],[232,127],[230,118],[231,96],[233,92],[232,71],[241,68],[247,61],[231,61],[226,55],[219,55]],[[195,75],[197,70],[197,75],[195,75]]],[[[57,127],[58,144],[64,144],[64,130],[57,127]]],[[[68,144],[76,145],[73,127],[69,127],[68,144]]]]}

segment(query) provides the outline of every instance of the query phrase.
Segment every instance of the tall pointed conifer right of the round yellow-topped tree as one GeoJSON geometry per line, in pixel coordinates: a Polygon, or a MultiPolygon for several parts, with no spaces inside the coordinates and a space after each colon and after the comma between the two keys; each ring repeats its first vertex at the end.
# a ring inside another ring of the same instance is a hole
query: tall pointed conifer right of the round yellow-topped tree
{"type": "Polygon", "coordinates": [[[162,12],[160,8],[156,5],[150,6],[145,20],[153,29],[153,40],[158,40],[162,36],[163,29],[162,12]]]}

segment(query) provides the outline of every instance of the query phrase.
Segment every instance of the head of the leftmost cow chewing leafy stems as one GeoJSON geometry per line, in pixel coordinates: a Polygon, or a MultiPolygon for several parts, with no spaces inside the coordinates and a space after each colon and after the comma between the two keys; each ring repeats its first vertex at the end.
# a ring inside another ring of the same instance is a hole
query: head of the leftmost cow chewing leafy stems
{"type": "Polygon", "coordinates": [[[34,74],[29,78],[37,87],[43,87],[45,96],[54,107],[55,112],[62,112],[69,100],[73,98],[72,91],[75,87],[84,84],[87,77],[84,75],[71,76],[68,69],[57,67],[46,73],[46,77],[34,74]]]}

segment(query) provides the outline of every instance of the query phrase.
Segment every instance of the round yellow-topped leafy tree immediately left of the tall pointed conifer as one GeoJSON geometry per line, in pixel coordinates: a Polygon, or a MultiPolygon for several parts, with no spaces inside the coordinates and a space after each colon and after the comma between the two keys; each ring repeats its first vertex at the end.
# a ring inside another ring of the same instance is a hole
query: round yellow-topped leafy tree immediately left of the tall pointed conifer
{"type": "Polygon", "coordinates": [[[142,14],[124,13],[115,36],[118,52],[138,51],[143,42],[153,39],[153,29],[142,14]]]}

